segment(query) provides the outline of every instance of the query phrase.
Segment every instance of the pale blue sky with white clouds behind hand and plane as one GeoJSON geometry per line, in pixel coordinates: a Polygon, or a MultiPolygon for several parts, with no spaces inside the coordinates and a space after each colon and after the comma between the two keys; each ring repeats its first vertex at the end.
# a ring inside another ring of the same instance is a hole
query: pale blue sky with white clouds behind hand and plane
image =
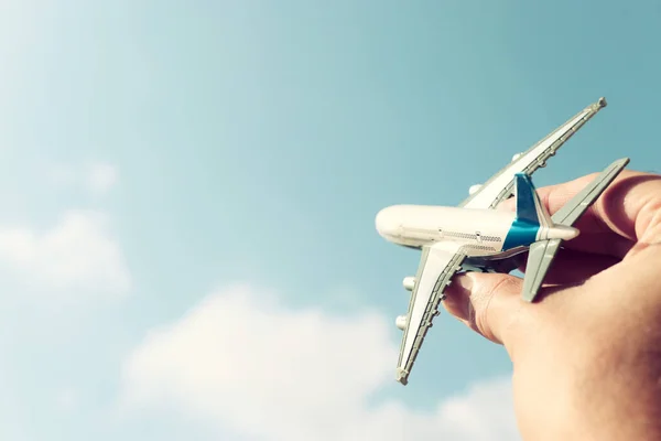
{"type": "Polygon", "coordinates": [[[505,351],[419,254],[586,105],[538,186],[658,171],[659,1],[0,0],[0,439],[511,440],[505,351]]]}

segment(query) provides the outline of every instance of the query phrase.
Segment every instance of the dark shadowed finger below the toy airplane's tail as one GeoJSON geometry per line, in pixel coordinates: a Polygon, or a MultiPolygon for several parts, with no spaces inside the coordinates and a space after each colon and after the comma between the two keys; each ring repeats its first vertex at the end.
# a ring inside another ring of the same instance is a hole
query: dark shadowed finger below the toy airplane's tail
{"type": "MultiPolygon", "coordinates": [[[[619,258],[613,256],[563,248],[553,259],[551,268],[544,277],[544,286],[579,283],[620,261],[619,258]]],[[[519,271],[525,272],[525,263],[519,267],[519,271]]]]}

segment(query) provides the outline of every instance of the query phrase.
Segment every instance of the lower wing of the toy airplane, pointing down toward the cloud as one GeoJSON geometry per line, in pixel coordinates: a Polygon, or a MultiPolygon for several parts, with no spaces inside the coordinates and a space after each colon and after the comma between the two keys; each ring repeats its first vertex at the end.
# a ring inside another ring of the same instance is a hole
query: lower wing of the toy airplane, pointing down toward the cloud
{"type": "Polygon", "coordinates": [[[452,277],[462,268],[466,255],[455,243],[440,241],[423,247],[415,286],[409,302],[407,325],[397,368],[397,380],[405,385],[411,367],[432,320],[438,315],[438,303],[452,277]]]}

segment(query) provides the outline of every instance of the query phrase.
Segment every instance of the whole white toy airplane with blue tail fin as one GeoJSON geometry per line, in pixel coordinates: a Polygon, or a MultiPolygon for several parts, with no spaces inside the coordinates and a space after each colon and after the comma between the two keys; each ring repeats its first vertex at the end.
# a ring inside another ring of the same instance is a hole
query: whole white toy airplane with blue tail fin
{"type": "Polygon", "coordinates": [[[563,240],[578,235],[572,225],[583,215],[629,162],[620,159],[609,165],[553,216],[542,205],[530,175],[585,122],[606,107],[599,100],[582,111],[512,162],[484,185],[473,185],[469,197],[458,207],[394,205],[376,218],[379,234],[387,240],[422,250],[415,277],[403,286],[412,291],[409,312],[397,318],[403,331],[397,380],[405,385],[420,346],[438,303],[454,275],[460,271],[510,272],[529,251],[522,298],[532,302],[563,240]],[[496,206],[516,194],[514,213],[496,206]]]}

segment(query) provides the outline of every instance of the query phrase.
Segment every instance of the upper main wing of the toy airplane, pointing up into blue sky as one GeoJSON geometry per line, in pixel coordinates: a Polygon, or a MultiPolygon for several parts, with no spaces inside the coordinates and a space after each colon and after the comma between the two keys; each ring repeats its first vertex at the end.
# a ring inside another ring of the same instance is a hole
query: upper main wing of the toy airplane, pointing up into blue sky
{"type": "Polygon", "coordinates": [[[606,107],[606,99],[599,100],[581,110],[576,116],[560,126],[546,138],[531,147],[517,160],[506,165],[487,181],[477,192],[459,204],[465,208],[494,208],[512,195],[513,178],[517,173],[532,175],[539,168],[546,165],[546,160],[555,154],[567,139],[583,125],[606,107]]]}

